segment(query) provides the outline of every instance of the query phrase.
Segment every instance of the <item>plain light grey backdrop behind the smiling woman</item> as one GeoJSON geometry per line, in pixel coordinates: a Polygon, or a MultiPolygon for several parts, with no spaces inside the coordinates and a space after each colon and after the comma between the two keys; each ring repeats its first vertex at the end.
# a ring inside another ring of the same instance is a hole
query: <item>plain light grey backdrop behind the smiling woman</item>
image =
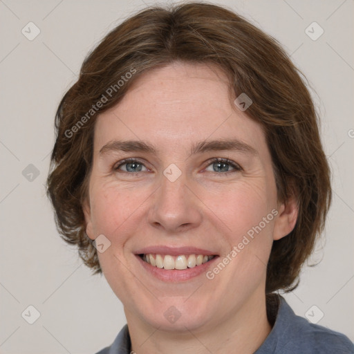
{"type": "MultiPolygon", "coordinates": [[[[84,57],[111,28],[152,3],[0,0],[0,353],[95,353],[126,323],[104,277],[91,276],[77,251],[57,234],[44,183],[57,104],[84,57]],[[37,29],[29,22],[40,30],[32,40],[28,36],[37,29]],[[36,314],[28,306],[40,314],[34,324],[25,320],[28,311],[36,314]]],[[[333,170],[333,205],[310,260],[319,264],[306,266],[299,287],[285,297],[301,316],[317,306],[315,314],[324,314],[318,324],[354,340],[354,3],[214,3],[229,6],[278,39],[316,92],[333,170]],[[312,25],[312,32],[324,30],[316,40],[306,34],[314,21],[320,27],[312,25]]]]}

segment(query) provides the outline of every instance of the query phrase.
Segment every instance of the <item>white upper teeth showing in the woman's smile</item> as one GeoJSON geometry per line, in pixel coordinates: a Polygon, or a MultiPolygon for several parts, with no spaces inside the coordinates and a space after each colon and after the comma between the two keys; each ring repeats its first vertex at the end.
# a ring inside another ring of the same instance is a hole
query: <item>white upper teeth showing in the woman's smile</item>
{"type": "Polygon", "coordinates": [[[185,270],[187,268],[198,267],[217,257],[216,255],[207,256],[204,254],[181,254],[171,256],[169,254],[139,254],[142,261],[149,263],[153,267],[165,270],[185,270]]]}

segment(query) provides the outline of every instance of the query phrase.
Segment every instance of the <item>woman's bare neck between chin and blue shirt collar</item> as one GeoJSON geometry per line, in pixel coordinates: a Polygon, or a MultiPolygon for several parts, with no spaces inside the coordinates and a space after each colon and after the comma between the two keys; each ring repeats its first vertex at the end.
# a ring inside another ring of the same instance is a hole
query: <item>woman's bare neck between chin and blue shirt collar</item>
{"type": "Polygon", "coordinates": [[[136,354],[252,354],[270,333],[263,297],[250,297],[236,313],[230,311],[215,326],[202,326],[198,330],[172,332],[156,329],[124,308],[131,337],[131,350],[136,354]],[[207,329],[206,329],[207,328],[207,329]],[[211,329],[212,328],[212,329],[211,329]]]}

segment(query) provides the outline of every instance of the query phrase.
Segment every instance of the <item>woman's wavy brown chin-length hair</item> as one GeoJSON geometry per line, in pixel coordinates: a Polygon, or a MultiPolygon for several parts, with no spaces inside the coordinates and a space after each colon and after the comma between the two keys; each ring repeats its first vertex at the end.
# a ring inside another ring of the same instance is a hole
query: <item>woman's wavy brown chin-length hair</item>
{"type": "Polygon", "coordinates": [[[85,233],[82,211],[94,118],[120,102],[140,73],[176,60],[214,64],[230,79],[234,97],[241,93],[251,97],[253,104],[246,113],[265,131],[278,199],[283,202],[295,194],[299,206],[294,230],[272,245],[266,292],[292,290],[323,231],[331,200],[317,115],[301,74],[277,41],[221,6],[147,8],[109,32],[86,57],[55,119],[57,137],[47,187],[60,234],[77,245],[93,274],[102,272],[93,241],[85,233]]]}

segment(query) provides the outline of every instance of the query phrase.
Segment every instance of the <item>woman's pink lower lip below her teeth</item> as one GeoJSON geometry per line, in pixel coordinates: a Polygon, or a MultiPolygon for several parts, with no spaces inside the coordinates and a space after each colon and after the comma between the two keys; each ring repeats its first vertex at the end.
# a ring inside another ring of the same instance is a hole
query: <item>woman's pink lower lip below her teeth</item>
{"type": "Polygon", "coordinates": [[[214,263],[214,261],[218,259],[218,256],[216,256],[206,263],[196,265],[193,268],[187,268],[184,270],[167,270],[164,268],[155,267],[143,261],[138,255],[136,255],[136,257],[138,258],[140,264],[147,270],[147,272],[162,281],[170,281],[171,283],[176,283],[177,281],[186,281],[194,277],[198,277],[198,275],[201,275],[206,272],[207,268],[209,268],[214,263]]]}

